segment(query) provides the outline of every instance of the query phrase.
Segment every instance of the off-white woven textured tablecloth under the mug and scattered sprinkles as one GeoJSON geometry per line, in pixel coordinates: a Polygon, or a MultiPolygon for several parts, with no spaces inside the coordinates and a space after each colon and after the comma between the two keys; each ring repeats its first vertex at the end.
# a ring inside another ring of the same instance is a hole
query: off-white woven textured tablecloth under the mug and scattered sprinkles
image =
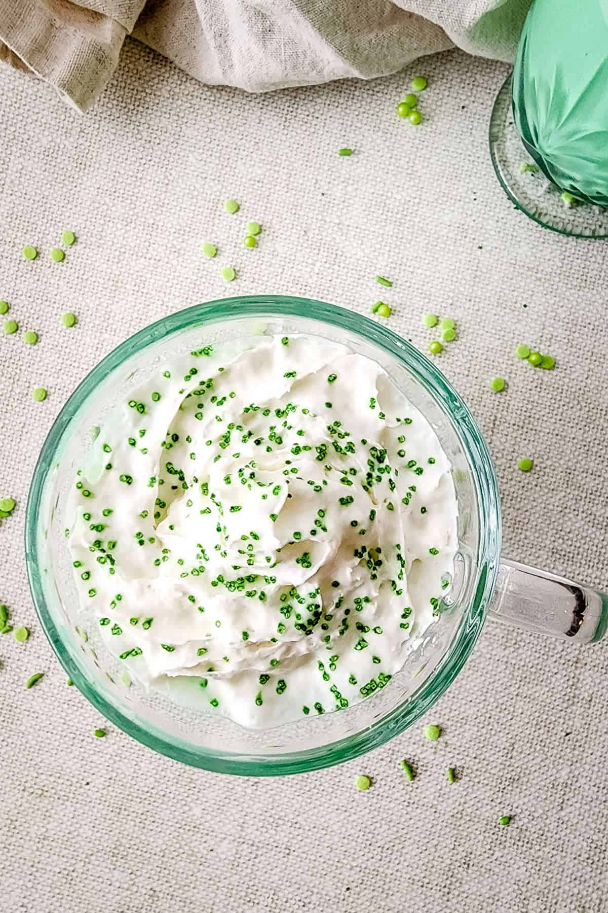
{"type": "Polygon", "coordinates": [[[32,629],[26,644],[0,637],[3,913],[606,908],[604,644],[488,623],[428,719],[382,749],[314,774],[239,779],[114,727],[96,739],[104,720],[66,687],[27,590],[29,479],[67,395],[150,321],[263,292],[360,313],[382,297],[388,325],[420,347],[432,339],[423,312],[454,318],[458,341],[438,365],[488,439],[505,554],[606,586],[605,247],[543,231],[502,193],[487,131],[504,66],[450,51],[418,68],[419,128],[395,114],[413,67],[244,96],[128,39],[87,118],[48,87],[2,76],[0,299],[40,334],[36,347],[0,334],[0,495],[18,502],[0,526],[0,600],[32,629]],[[352,157],[336,154],[344,145],[352,157]],[[239,214],[224,213],[228,197],[239,214]],[[253,250],[242,246],[250,218],[263,225],[253,250]],[[48,251],[66,228],[77,244],[55,264],[48,251]],[[215,260],[203,240],[218,245],[215,260]],[[34,262],[21,255],[28,243],[34,262]],[[229,264],[239,277],[226,285],[229,264]],[[519,362],[520,341],[551,352],[556,369],[519,362]],[[503,394],[489,389],[494,374],[509,382],[503,394]],[[37,385],[45,403],[31,399],[37,385]],[[534,457],[531,473],[520,456],[534,457]],[[425,722],[445,735],[424,740],[425,722]],[[374,778],[368,792],[356,792],[357,773],[374,778]]]}

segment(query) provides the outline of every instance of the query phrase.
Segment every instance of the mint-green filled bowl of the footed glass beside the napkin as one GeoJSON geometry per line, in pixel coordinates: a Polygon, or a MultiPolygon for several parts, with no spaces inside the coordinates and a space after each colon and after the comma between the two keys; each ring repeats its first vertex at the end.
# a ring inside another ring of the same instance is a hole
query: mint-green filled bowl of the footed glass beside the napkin
{"type": "Polygon", "coordinates": [[[513,71],[513,116],[553,184],[608,206],[608,0],[535,0],[513,71]]]}

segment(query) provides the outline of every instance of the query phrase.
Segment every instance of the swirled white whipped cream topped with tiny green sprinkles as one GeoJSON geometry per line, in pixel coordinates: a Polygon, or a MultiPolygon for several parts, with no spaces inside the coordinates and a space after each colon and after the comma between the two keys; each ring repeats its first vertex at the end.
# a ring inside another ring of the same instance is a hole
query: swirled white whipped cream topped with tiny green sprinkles
{"type": "Polygon", "coordinates": [[[167,364],[101,426],[67,510],[82,607],[129,674],[191,677],[252,728],[385,687],[457,549],[428,421],[376,362],[309,336],[167,364]]]}

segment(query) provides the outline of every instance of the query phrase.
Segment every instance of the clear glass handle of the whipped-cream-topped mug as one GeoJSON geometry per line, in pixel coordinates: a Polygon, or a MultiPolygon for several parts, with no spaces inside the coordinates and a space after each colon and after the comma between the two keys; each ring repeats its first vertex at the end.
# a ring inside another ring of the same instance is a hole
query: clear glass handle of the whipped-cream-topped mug
{"type": "Polygon", "coordinates": [[[594,644],[608,627],[608,594],[502,559],[488,616],[536,634],[594,644]]]}

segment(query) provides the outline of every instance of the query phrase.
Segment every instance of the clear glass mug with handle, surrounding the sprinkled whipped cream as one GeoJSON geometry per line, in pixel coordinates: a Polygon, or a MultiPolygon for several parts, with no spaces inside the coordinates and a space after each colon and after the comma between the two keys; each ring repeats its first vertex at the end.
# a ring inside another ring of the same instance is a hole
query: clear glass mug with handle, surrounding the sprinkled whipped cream
{"type": "Polygon", "coordinates": [[[123,342],[88,374],[58,415],[36,465],[26,563],[46,636],[85,697],[149,748],[225,773],[311,771],[377,748],[433,706],[458,675],[487,616],[573,643],[599,640],[608,619],[608,596],[500,558],[500,501],[488,448],[467,406],[424,355],[349,310],[279,295],[222,299],[171,314],[123,342]],[[459,551],[438,618],[386,687],[352,708],[260,731],[130,682],[101,642],[98,624],[81,615],[63,509],[98,425],[130,387],[203,343],[277,333],[306,333],[366,355],[426,415],[452,465],[459,551]]]}

